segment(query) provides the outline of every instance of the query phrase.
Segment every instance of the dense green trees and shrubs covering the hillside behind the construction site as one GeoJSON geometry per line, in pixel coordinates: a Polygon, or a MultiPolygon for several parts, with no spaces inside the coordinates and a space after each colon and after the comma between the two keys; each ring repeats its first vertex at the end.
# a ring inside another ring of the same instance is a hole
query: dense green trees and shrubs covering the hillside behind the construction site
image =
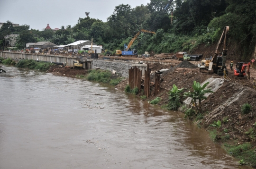
{"type": "Polygon", "coordinates": [[[73,27],[61,26],[55,33],[30,29],[29,25],[14,27],[7,21],[0,28],[0,45],[9,43],[5,35],[15,33],[19,34],[18,48],[23,48],[27,42],[51,41],[60,45],[93,38],[103,48],[115,51],[123,49],[138,30],[146,29],[156,34],[139,35],[132,46],[137,46],[138,54],[144,51],[189,52],[201,43],[218,41],[224,26],[229,25],[229,37],[243,50],[241,59],[249,59],[256,44],[255,0],[174,0],[165,10],[168,1],[150,0],[146,6],[135,8],[120,4],[107,17],[107,22],[79,18],[73,27]]]}

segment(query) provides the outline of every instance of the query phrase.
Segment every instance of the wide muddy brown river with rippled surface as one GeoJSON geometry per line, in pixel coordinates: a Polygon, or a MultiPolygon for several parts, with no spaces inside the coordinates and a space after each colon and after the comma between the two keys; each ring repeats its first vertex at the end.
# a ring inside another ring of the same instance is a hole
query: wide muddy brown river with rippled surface
{"type": "Polygon", "coordinates": [[[251,169],[181,112],[102,84],[4,69],[0,169],[251,169]]]}

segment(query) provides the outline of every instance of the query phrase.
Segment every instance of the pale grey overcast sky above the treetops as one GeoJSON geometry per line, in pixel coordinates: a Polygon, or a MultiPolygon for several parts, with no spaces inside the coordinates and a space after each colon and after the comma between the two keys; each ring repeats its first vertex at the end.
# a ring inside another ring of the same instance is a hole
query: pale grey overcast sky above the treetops
{"type": "Polygon", "coordinates": [[[40,31],[49,23],[52,29],[75,25],[84,12],[89,17],[107,21],[116,6],[129,4],[132,8],[146,5],[150,0],[0,0],[0,22],[11,21],[30,25],[40,31]]]}

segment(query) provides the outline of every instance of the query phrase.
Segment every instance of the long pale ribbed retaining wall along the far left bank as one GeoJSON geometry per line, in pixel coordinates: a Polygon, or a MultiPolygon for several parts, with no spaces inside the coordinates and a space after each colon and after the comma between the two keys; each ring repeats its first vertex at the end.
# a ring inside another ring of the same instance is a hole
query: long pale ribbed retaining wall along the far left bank
{"type": "Polygon", "coordinates": [[[65,63],[69,67],[73,67],[73,60],[76,60],[76,57],[69,56],[59,56],[59,55],[48,55],[48,54],[35,54],[35,53],[21,53],[21,52],[11,52],[11,51],[1,51],[0,57],[6,57],[11,59],[33,59],[47,62],[57,62],[65,63]]]}

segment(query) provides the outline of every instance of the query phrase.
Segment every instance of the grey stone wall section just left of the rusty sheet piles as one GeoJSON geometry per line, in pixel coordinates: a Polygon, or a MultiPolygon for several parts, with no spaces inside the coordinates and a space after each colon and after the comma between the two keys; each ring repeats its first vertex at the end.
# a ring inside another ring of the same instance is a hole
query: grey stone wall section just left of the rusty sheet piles
{"type": "Polygon", "coordinates": [[[94,59],[91,63],[91,68],[100,68],[102,70],[116,70],[117,74],[121,74],[123,77],[129,77],[129,68],[132,68],[132,65],[119,63],[119,62],[111,62],[106,60],[96,60],[94,59]]]}

